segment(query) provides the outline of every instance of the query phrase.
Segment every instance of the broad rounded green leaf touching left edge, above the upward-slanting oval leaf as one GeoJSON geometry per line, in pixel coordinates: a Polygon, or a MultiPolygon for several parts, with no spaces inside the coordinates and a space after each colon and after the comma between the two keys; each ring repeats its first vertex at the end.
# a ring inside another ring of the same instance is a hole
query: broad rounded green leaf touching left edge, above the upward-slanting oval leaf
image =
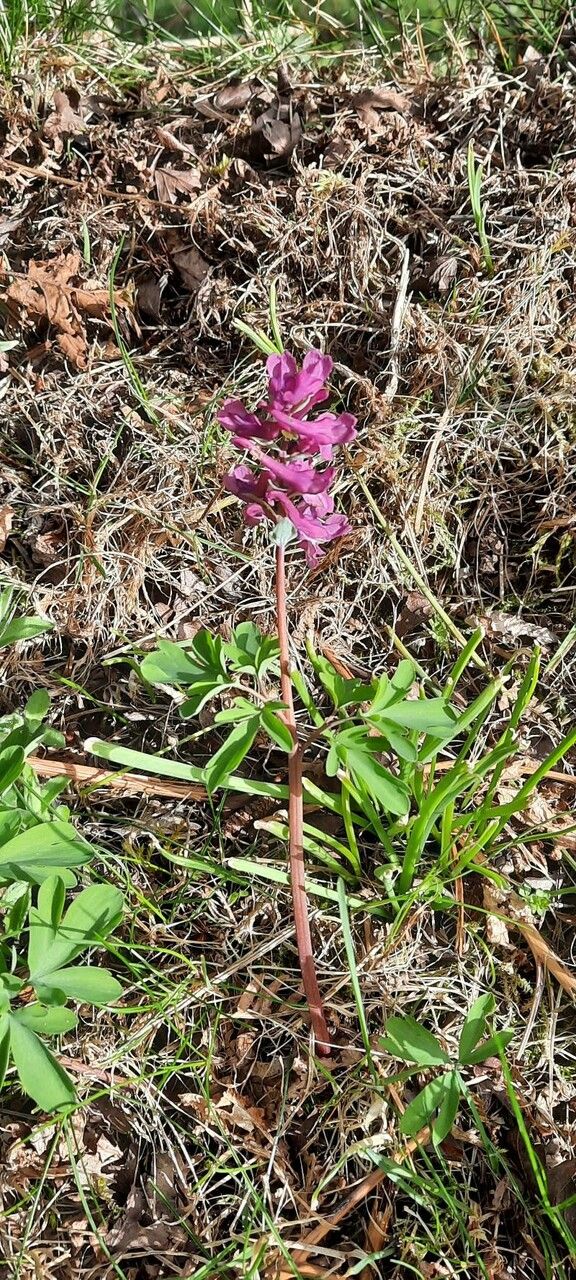
{"type": "Polygon", "coordinates": [[[61,867],[82,867],[93,849],[68,822],[40,822],[0,849],[0,879],[40,883],[61,867]]]}

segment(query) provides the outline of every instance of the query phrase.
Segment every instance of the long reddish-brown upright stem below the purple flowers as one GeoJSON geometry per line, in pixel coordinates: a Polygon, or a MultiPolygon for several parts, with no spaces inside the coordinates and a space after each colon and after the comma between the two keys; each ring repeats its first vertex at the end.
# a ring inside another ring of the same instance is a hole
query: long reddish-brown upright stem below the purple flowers
{"type": "Polygon", "coordinates": [[[298,736],[294,717],[294,701],[292,696],[291,664],[288,650],[288,622],[285,609],[285,561],[284,548],[276,547],[276,623],[278,643],[280,646],[280,687],[282,700],[285,704],[285,722],[292,733],[293,748],[288,756],[288,831],[289,831],[289,868],[292,883],[292,904],[294,911],[296,942],[298,946],[300,968],[302,982],[308,1002],[312,1030],[320,1053],[330,1053],[330,1036],[326,1019],[324,1016],[323,997],[316,977],[314,963],[312,938],[310,933],[308,899],[306,893],[305,859],[303,859],[303,799],[302,799],[302,749],[298,745],[298,736]]]}

